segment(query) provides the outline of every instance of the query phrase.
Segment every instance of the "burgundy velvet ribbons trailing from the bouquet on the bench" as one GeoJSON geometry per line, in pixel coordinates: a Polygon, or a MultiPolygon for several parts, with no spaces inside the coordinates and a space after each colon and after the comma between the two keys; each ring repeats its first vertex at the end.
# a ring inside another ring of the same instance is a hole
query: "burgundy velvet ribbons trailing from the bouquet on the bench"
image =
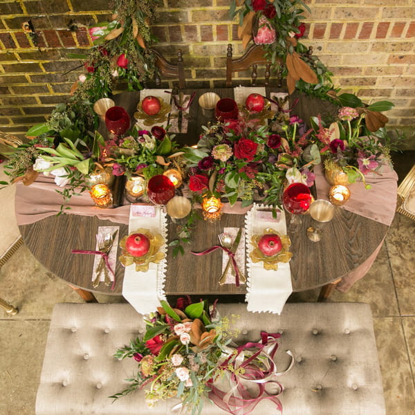
{"type": "MultiPolygon", "coordinates": [[[[271,363],[270,371],[264,371],[257,367],[257,365],[252,365],[252,361],[255,360],[261,354],[264,347],[268,344],[268,341],[270,338],[273,338],[271,340],[271,343],[273,344],[272,349],[270,349],[270,352],[268,353],[268,356],[270,358],[274,358],[275,352],[277,351],[278,344],[275,341],[275,339],[279,338],[279,333],[266,333],[264,331],[261,331],[261,343],[254,343],[254,342],[248,342],[246,344],[243,344],[242,346],[237,348],[237,354],[236,356],[234,354],[230,355],[225,361],[221,364],[220,367],[223,367],[224,369],[227,368],[229,365],[232,365],[234,369],[237,369],[235,367],[235,362],[237,360],[237,357],[244,349],[252,349],[252,347],[257,348],[258,350],[252,354],[250,358],[247,360],[244,360],[243,363],[239,366],[244,369],[243,378],[245,380],[250,380],[252,382],[256,382],[258,385],[258,393],[256,397],[252,397],[252,395],[249,393],[248,389],[241,383],[241,380],[239,380],[238,376],[235,375],[234,371],[230,371],[230,378],[234,384],[236,384],[236,388],[238,391],[239,396],[227,396],[227,393],[221,391],[217,387],[213,385],[213,379],[210,379],[208,381],[208,385],[211,388],[211,391],[209,393],[209,398],[221,409],[225,410],[226,412],[229,412],[232,415],[248,415],[250,412],[252,412],[257,404],[263,400],[271,400],[273,403],[275,403],[275,406],[277,409],[282,412],[282,404],[277,398],[277,395],[269,395],[265,390],[266,385],[266,377],[273,373],[273,369],[275,369],[275,363],[271,363]],[[261,380],[264,380],[261,382],[261,380]]],[[[282,385],[277,382],[277,385],[279,385],[281,394],[282,391],[282,385]]],[[[278,395],[279,395],[278,394],[278,395]]]]}

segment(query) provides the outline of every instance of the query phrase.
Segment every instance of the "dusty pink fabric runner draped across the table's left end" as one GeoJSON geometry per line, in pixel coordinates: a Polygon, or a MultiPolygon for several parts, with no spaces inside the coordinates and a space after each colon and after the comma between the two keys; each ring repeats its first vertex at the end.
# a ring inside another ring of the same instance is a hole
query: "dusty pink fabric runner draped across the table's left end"
{"type": "MultiPolygon", "coordinates": [[[[45,177],[43,174],[39,174],[35,183],[30,186],[25,186],[21,181],[17,182],[15,198],[17,225],[27,225],[57,214],[63,199],[56,190],[62,191],[62,187],[55,185],[53,178],[45,177]]],[[[97,208],[87,190],[80,196],[72,196],[70,205],[71,209],[65,210],[66,213],[98,216],[100,219],[128,225],[129,205],[113,209],[97,208]]]]}

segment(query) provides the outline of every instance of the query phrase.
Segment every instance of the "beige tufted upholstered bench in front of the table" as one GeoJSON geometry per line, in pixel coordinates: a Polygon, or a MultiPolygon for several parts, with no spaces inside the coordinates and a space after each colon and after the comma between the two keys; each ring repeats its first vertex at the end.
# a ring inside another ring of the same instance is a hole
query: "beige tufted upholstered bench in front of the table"
{"type": "MultiPolygon", "coordinates": [[[[277,369],[295,356],[281,376],[284,415],[384,415],[385,402],[371,311],[360,303],[286,304],[282,315],[252,314],[245,304],[219,304],[221,315],[240,315],[237,342],[259,339],[259,331],[282,334],[277,369]]],[[[112,403],[108,398],[136,373],[133,359],[113,353],[142,335],[145,323],[129,304],[57,304],[50,322],[36,400],[37,415],[170,414],[175,401],[152,408],[142,391],[112,403]]],[[[252,414],[275,414],[261,401],[252,414]]],[[[203,414],[224,415],[213,404],[203,414]]]]}

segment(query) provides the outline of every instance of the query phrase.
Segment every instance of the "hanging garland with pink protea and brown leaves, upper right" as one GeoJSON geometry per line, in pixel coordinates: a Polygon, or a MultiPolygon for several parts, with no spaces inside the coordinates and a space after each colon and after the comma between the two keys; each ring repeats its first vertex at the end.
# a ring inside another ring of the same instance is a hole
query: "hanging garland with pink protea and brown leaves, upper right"
{"type": "Polygon", "coordinates": [[[331,72],[299,39],[306,25],[302,13],[311,10],[302,0],[232,0],[231,17],[239,16],[238,35],[243,47],[250,40],[263,46],[275,66],[282,66],[289,93],[299,91],[329,99],[331,72]]]}

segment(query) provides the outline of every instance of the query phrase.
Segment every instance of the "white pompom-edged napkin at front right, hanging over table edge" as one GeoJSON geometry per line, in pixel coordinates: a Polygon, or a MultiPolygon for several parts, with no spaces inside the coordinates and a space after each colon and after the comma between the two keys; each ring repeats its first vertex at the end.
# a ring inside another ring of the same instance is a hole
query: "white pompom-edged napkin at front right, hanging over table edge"
{"type": "Polygon", "coordinates": [[[286,300],[293,292],[291,284],[290,263],[278,263],[278,270],[264,269],[263,262],[253,263],[250,252],[254,246],[250,243],[252,236],[262,234],[264,229],[272,228],[279,234],[286,234],[284,211],[279,212],[277,219],[273,219],[271,207],[254,203],[252,209],[245,216],[246,247],[248,280],[246,302],[247,310],[253,313],[268,311],[280,314],[286,300]],[[261,210],[269,210],[264,212],[261,210]]]}

